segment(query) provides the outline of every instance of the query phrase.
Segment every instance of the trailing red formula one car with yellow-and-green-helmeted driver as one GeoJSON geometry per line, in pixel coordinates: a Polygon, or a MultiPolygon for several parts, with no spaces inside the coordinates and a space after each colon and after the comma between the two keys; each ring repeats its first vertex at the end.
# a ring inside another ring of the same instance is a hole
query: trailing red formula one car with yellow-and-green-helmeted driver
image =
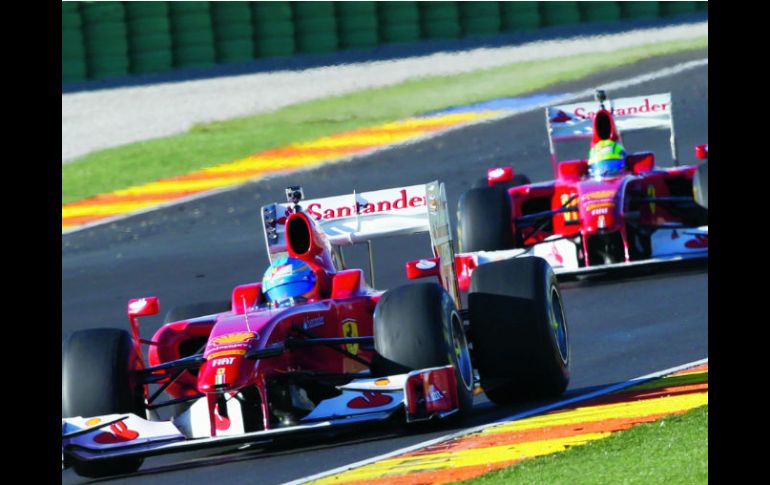
{"type": "MultiPolygon", "coordinates": [[[[480,264],[523,255],[547,259],[559,274],[708,256],[708,209],[701,200],[704,193],[708,198],[708,172],[678,166],[670,94],[607,103],[598,91],[597,104],[549,107],[546,116],[556,179],[532,184],[511,167],[492,168],[486,186],[461,196],[461,278],[480,264]],[[621,131],[661,128],[671,134],[670,168],[657,167],[651,152],[624,154],[620,164],[604,168],[556,156],[560,141],[613,145],[621,131]]],[[[696,154],[706,158],[708,147],[696,154]]]]}

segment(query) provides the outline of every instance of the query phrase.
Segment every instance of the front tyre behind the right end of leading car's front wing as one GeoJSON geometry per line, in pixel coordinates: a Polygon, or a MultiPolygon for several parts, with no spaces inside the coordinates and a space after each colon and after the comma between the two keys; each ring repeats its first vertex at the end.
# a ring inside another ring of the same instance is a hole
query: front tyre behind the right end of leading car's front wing
{"type": "Polygon", "coordinates": [[[435,283],[387,291],[374,311],[374,375],[402,374],[452,364],[459,412],[473,408],[473,367],[462,319],[449,294],[435,283]]]}

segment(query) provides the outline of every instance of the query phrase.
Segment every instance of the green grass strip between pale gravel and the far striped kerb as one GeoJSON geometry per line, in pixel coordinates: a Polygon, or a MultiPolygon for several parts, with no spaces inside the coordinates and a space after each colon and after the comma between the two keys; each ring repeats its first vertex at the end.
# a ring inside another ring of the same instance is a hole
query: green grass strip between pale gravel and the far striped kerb
{"type": "Polygon", "coordinates": [[[199,124],[187,133],[100,150],[62,166],[62,203],[183,175],[292,142],[427,111],[516,96],[650,57],[708,47],[708,37],[610,54],[521,62],[433,76],[298,103],[271,113],[199,124]]]}

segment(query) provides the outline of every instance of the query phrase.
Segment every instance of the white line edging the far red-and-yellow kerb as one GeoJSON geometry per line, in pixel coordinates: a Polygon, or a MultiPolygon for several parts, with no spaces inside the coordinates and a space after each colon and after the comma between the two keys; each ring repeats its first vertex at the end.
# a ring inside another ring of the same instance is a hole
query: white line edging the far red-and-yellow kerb
{"type": "MultiPolygon", "coordinates": [[[[677,65],[671,66],[671,67],[666,67],[666,68],[660,69],[658,71],[651,72],[649,74],[642,74],[642,75],[634,76],[634,77],[627,78],[627,79],[621,79],[621,80],[618,80],[618,81],[613,81],[613,82],[604,84],[602,86],[602,88],[605,89],[605,90],[628,88],[628,87],[631,87],[631,86],[636,86],[637,84],[642,84],[642,83],[649,82],[649,81],[655,81],[657,79],[661,79],[661,78],[668,77],[668,76],[673,76],[673,75],[679,74],[681,72],[688,71],[690,69],[695,69],[695,68],[702,67],[702,66],[707,66],[707,65],[708,65],[708,58],[698,59],[698,60],[689,61],[689,62],[683,62],[681,64],[677,64],[677,65]]],[[[155,206],[151,206],[151,207],[147,207],[147,208],[144,208],[144,209],[140,209],[140,210],[128,213],[128,214],[121,214],[121,215],[118,215],[118,216],[115,216],[115,217],[110,217],[110,218],[107,218],[107,219],[100,219],[98,221],[94,221],[94,222],[90,222],[90,223],[83,224],[83,225],[80,225],[80,226],[72,227],[70,229],[63,230],[62,231],[62,235],[71,234],[73,232],[81,231],[83,229],[90,229],[92,227],[100,226],[100,225],[103,225],[103,224],[110,224],[112,222],[117,222],[117,221],[120,221],[120,220],[123,220],[123,219],[127,219],[129,217],[133,217],[133,216],[136,216],[136,215],[139,215],[139,214],[146,214],[146,213],[153,212],[153,211],[156,211],[156,210],[159,210],[159,209],[163,209],[163,208],[166,208],[166,207],[172,207],[172,206],[175,206],[175,205],[178,205],[178,204],[184,204],[184,203],[191,202],[191,201],[194,201],[194,200],[197,200],[197,199],[203,199],[205,197],[210,197],[212,195],[221,194],[221,193],[224,193],[224,192],[229,192],[231,190],[239,189],[239,188],[243,187],[244,185],[247,185],[247,184],[250,184],[250,183],[254,183],[254,182],[257,182],[257,181],[261,182],[263,180],[267,180],[267,179],[272,178],[272,177],[278,177],[278,176],[286,175],[287,173],[296,173],[296,172],[304,172],[304,171],[307,171],[307,170],[315,170],[317,168],[320,168],[321,166],[324,166],[324,165],[327,165],[327,164],[330,164],[330,163],[348,163],[348,162],[357,160],[359,158],[368,157],[370,155],[373,155],[375,153],[379,153],[379,152],[384,151],[384,150],[391,150],[391,149],[394,149],[394,148],[400,148],[400,147],[403,147],[403,146],[406,146],[406,145],[411,145],[413,143],[422,143],[422,142],[424,142],[426,140],[429,140],[431,138],[436,138],[436,137],[439,137],[439,136],[443,136],[443,135],[446,135],[448,133],[454,132],[456,130],[461,130],[461,129],[464,129],[464,128],[468,128],[470,126],[476,126],[476,125],[480,125],[480,124],[483,124],[483,123],[491,123],[491,122],[495,122],[495,121],[500,121],[502,119],[510,118],[510,117],[513,117],[513,116],[518,116],[520,114],[529,113],[529,112],[535,111],[537,109],[544,109],[544,108],[546,108],[548,106],[554,106],[556,104],[566,103],[568,101],[572,101],[572,100],[579,99],[579,98],[591,97],[591,96],[594,95],[595,91],[596,91],[595,88],[591,88],[591,89],[586,89],[584,91],[580,91],[578,93],[565,94],[562,97],[559,97],[559,98],[556,98],[556,99],[551,99],[547,103],[539,103],[539,104],[536,104],[536,105],[529,106],[527,108],[521,108],[521,109],[518,109],[518,110],[513,110],[513,111],[510,111],[508,113],[505,113],[505,114],[503,114],[501,116],[497,116],[497,117],[494,117],[494,118],[489,118],[489,119],[484,119],[484,120],[479,120],[479,121],[472,121],[472,122],[469,122],[469,123],[463,123],[463,124],[454,126],[452,128],[448,128],[446,130],[442,130],[442,131],[440,131],[438,133],[431,133],[431,134],[427,134],[427,135],[424,135],[424,136],[420,136],[420,137],[416,137],[416,138],[411,138],[409,140],[405,140],[405,141],[402,141],[402,142],[397,142],[397,143],[392,143],[392,144],[389,144],[389,145],[384,145],[382,147],[375,148],[373,150],[370,150],[370,151],[367,151],[367,152],[364,152],[364,153],[357,153],[355,155],[351,155],[351,156],[348,156],[348,157],[338,158],[338,159],[334,159],[334,160],[328,160],[326,162],[323,162],[320,165],[314,165],[314,166],[311,166],[311,167],[298,168],[298,169],[287,171],[287,172],[277,172],[277,173],[273,173],[273,174],[270,174],[270,175],[259,176],[258,178],[255,178],[253,180],[250,180],[250,181],[247,181],[247,182],[244,182],[244,183],[241,183],[241,184],[231,185],[231,186],[228,186],[228,187],[222,187],[222,188],[219,188],[219,189],[214,189],[214,190],[209,190],[209,191],[206,191],[206,192],[201,192],[201,193],[198,193],[198,194],[195,194],[195,195],[191,195],[189,197],[184,197],[184,198],[181,198],[181,199],[175,199],[175,200],[172,200],[172,201],[164,202],[162,204],[158,204],[158,205],[155,205],[155,206]]]]}

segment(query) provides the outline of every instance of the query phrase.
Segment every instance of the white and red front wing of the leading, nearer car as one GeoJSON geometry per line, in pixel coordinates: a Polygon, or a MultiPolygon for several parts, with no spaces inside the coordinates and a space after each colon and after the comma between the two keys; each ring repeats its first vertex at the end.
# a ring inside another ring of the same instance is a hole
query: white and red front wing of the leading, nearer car
{"type": "Polygon", "coordinates": [[[299,424],[254,432],[230,429],[225,435],[215,431],[214,436],[209,433],[195,437],[200,435],[201,425],[208,429],[209,419],[206,417],[206,422],[198,422],[196,427],[191,421],[200,419],[191,417],[189,411],[170,421],[150,421],[135,414],[67,418],[62,420],[62,460],[65,464],[72,460],[146,457],[269,442],[278,436],[384,421],[400,410],[404,410],[409,422],[443,418],[458,410],[456,393],[451,389],[454,376],[450,365],[386,378],[355,379],[339,386],[339,396],[319,403],[299,424]]]}

